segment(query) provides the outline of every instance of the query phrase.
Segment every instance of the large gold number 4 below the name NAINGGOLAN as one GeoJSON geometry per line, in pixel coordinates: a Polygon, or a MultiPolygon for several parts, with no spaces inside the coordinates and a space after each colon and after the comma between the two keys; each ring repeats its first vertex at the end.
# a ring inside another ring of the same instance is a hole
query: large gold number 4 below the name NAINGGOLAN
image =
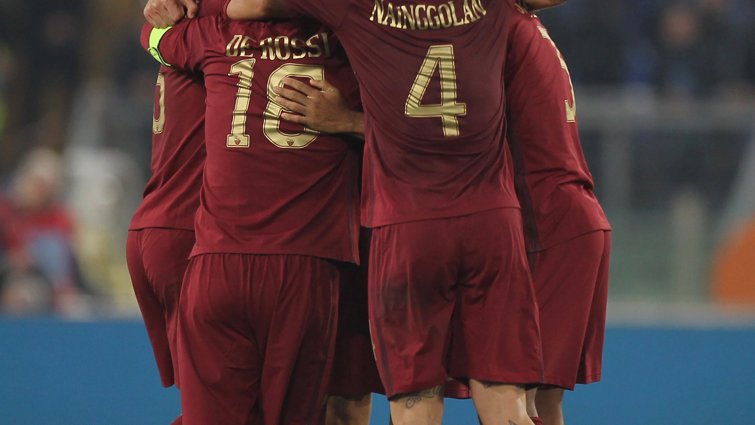
{"type": "Polygon", "coordinates": [[[454,62],[454,46],[431,46],[427,56],[411,85],[409,97],[406,99],[405,114],[414,117],[435,116],[443,120],[443,135],[456,137],[459,135],[459,115],[467,115],[467,103],[456,102],[456,65],[454,62]],[[440,95],[441,102],[436,105],[421,105],[422,98],[436,68],[440,66],[440,95]]]}

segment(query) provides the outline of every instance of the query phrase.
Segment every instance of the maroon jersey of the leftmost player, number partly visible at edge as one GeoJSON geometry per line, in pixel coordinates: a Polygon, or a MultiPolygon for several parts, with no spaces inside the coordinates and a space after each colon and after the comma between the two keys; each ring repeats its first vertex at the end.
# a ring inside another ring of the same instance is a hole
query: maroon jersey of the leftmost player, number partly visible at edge
{"type": "Polygon", "coordinates": [[[205,86],[202,76],[162,66],[155,91],[152,177],[130,230],[194,229],[205,165],[205,86]]]}

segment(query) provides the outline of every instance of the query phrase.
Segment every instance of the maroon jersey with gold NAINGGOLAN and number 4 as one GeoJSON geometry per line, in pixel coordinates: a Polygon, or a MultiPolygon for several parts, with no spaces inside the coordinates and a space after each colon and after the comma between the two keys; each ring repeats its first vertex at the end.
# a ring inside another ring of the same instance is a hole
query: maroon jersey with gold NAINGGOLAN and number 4
{"type": "Polygon", "coordinates": [[[519,206],[503,146],[513,0],[285,3],[334,29],[359,79],[365,226],[519,206]]]}

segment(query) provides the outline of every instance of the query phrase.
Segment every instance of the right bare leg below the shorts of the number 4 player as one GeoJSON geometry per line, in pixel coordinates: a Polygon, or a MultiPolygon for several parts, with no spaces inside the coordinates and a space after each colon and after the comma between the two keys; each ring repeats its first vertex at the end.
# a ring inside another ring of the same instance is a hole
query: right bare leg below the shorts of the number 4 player
{"type": "Polygon", "coordinates": [[[482,425],[534,425],[522,385],[470,379],[470,390],[482,425]]]}

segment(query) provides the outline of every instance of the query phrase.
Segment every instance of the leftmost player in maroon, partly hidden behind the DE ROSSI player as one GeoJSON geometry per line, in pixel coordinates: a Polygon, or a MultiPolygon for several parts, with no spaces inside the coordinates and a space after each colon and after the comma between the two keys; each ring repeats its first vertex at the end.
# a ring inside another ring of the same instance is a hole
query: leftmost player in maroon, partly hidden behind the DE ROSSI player
{"type": "Polygon", "coordinates": [[[126,260],[165,387],[178,378],[178,299],[194,247],[204,165],[202,77],[162,66],[155,95],[153,176],[129,226],[126,260]]]}

